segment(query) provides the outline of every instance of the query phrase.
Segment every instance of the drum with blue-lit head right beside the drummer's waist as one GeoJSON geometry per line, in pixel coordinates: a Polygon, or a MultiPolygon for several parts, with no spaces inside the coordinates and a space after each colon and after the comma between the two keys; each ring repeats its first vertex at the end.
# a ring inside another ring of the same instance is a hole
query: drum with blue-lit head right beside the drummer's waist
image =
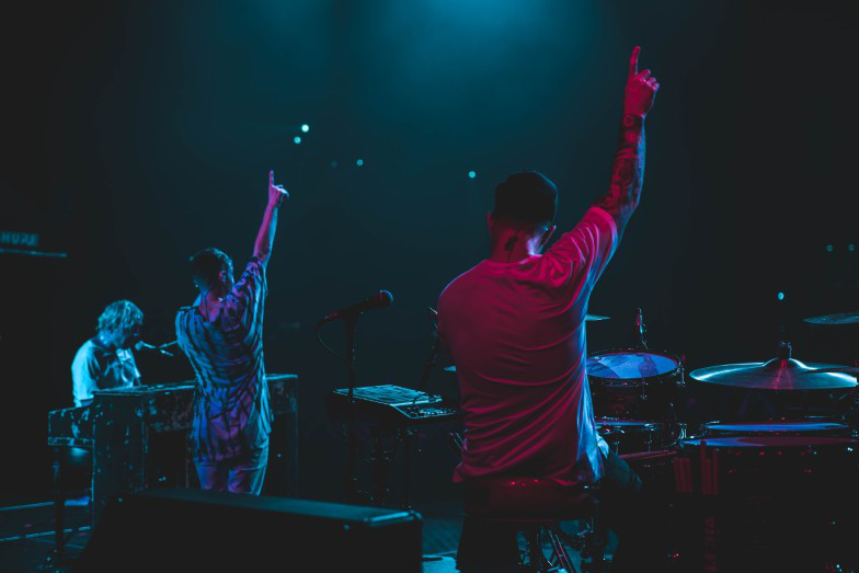
{"type": "Polygon", "coordinates": [[[685,386],[679,357],[643,349],[588,355],[587,379],[596,415],[625,420],[669,419],[677,390],[685,386]]]}

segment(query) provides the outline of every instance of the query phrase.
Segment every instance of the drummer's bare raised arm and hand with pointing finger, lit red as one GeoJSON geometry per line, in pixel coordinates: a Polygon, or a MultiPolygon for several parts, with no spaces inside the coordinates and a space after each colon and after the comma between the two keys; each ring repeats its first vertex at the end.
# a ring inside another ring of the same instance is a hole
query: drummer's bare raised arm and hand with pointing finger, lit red
{"type": "Polygon", "coordinates": [[[650,70],[639,72],[639,51],[635,46],[629,61],[629,75],[623,93],[623,118],[620,122],[620,140],[611,163],[611,183],[608,193],[596,202],[615,219],[618,237],[641,197],[644,179],[644,117],[653,106],[660,84],[650,70]]]}

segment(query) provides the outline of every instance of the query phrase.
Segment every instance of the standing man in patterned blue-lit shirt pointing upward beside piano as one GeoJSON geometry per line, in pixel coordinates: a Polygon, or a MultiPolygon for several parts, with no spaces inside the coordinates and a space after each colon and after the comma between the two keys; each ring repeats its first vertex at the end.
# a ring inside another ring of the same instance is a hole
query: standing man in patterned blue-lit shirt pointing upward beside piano
{"type": "Polygon", "coordinates": [[[289,194],[268,173],[268,205],[239,282],[217,249],[191,259],[199,296],[176,314],[176,340],[197,377],[191,438],[204,490],[259,495],[268,462],[272,409],[263,360],[265,268],[277,211],[289,194]]]}

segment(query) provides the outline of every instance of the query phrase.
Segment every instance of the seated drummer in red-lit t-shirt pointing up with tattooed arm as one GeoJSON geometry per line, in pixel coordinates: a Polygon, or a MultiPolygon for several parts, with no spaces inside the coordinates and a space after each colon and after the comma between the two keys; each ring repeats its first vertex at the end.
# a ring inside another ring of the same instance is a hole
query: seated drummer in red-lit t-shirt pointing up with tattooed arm
{"type": "MultiPolygon", "coordinates": [[[[641,488],[596,432],[585,369],[587,302],[639,204],[644,117],[658,90],[638,57],[637,47],[608,193],[541,254],[556,230],[558,190],[541,173],[514,173],[495,190],[489,259],[439,296],[439,340],[457,368],[466,426],[455,481],[518,474],[641,488]]],[[[460,568],[501,571],[503,543],[484,534],[466,520],[460,568]]]]}

